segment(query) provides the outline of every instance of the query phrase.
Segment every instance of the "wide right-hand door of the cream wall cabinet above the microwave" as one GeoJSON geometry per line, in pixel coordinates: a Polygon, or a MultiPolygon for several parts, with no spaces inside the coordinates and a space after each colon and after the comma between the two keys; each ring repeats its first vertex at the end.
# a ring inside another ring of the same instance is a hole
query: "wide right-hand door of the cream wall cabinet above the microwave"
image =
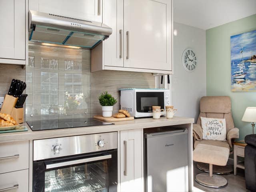
{"type": "Polygon", "coordinates": [[[172,70],[172,1],[124,1],[124,67],[172,70]]]}

